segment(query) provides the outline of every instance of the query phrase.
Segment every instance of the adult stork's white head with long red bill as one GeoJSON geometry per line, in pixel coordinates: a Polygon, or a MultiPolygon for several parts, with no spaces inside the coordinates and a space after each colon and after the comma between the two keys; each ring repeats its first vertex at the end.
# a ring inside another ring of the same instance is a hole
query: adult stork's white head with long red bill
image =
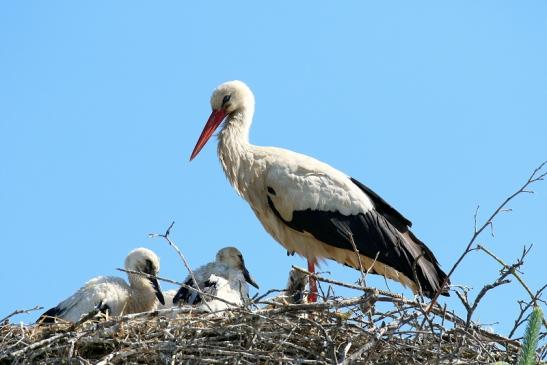
{"type": "Polygon", "coordinates": [[[254,111],[254,103],[253,92],[244,82],[234,80],[220,84],[211,95],[212,112],[192,151],[190,161],[197,156],[227,116],[243,110],[254,111]]]}

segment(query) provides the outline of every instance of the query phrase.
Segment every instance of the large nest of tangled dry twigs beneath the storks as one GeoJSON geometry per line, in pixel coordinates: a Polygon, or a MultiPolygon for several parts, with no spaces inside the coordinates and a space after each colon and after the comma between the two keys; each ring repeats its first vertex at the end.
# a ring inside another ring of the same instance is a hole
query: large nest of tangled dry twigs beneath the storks
{"type": "Polygon", "coordinates": [[[0,364],[513,363],[518,349],[440,307],[426,318],[420,303],[378,293],[316,304],[270,301],[221,315],[183,307],[0,327],[0,364]]]}

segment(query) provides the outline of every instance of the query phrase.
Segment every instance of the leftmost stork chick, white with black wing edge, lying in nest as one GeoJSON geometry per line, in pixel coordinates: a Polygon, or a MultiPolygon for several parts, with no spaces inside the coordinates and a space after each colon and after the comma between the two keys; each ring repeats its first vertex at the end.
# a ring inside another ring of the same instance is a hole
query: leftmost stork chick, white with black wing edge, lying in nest
{"type": "MultiPolygon", "coordinates": [[[[125,269],[157,275],[160,261],[154,252],[137,248],[127,255],[125,269]]],[[[77,322],[93,310],[112,316],[146,312],[156,308],[157,301],[165,304],[158,281],[137,274],[127,274],[129,284],[114,276],[98,276],[89,280],[76,293],[49,309],[37,323],[54,323],[56,319],[77,322]]]]}

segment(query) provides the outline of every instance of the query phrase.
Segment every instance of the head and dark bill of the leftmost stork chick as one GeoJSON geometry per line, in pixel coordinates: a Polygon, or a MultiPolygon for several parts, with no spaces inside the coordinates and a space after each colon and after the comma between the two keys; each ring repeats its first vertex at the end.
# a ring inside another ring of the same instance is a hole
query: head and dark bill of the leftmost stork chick
{"type": "MultiPolygon", "coordinates": [[[[160,259],[147,248],[134,249],[125,258],[125,269],[140,271],[142,273],[156,276],[160,271],[160,259]]],[[[155,277],[146,277],[137,274],[128,274],[132,286],[151,288],[161,304],[165,304],[160,284],[155,277]]]]}

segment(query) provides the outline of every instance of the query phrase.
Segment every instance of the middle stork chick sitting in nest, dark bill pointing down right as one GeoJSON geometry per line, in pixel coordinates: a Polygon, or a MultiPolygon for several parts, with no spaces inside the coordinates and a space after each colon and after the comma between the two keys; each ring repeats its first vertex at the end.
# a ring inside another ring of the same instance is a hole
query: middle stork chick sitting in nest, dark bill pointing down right
{"type": "MultiPolygon", "coordinates": [[[[247,283],[258,289],[258,285],[245,267],[243,255],[235,247],[225,247],[218,251],[215,261],[193,271],[198,287],[204,293],[212,294],[236,305],[244,304],[248,299],[247,283]]],[[[196,287],[188,275],[184,284],[196,287]]],[[[205,298],[212,311],[225,309],[225,302],[205,298]]],[[[181,287],[173,298],[173,304],[200,304],[201,296],[185,287],[181,287]]],[[[205,306],[204,308],[206,308],[205,306]]]]}

